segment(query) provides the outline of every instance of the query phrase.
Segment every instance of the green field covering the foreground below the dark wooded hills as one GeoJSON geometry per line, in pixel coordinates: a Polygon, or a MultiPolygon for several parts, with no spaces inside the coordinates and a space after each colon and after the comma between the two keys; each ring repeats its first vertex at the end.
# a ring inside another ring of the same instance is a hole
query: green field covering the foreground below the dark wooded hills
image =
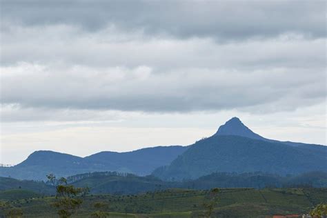
{"type": "MultiPolygon", "coordinates": [[[[185,189],[142,195],[89,195],[83,197],[83,204],[75,217],[90,217],[98,210],[94,207],[97,202],[103,204],[101,210],[110,212],[110,217],[201,217],[207,196],[208,190],[185,189]]],[[[51,205],[54,197],[40,197],[25,190],[7,190],[0,193],[0,198],[1,215],[19,208],[23,217],[57,217],[51,205]],[[14,195],[8,195],[10,192],[14,195]]],[[[327,188],[226,188],[220,190],[218,199],[212,217],[303,214],[316,204],[327,201],[327,188]]]]}

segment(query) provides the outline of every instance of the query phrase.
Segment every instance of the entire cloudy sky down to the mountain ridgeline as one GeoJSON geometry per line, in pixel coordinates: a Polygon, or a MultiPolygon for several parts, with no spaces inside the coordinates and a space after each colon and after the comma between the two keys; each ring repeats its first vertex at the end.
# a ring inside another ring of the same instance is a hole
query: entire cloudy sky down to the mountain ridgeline
{"type": "Polygon", "coordinates": [[[186,146],[231,117],[326,145],[325,1],[0,6],[1,164],[186,146]]]}

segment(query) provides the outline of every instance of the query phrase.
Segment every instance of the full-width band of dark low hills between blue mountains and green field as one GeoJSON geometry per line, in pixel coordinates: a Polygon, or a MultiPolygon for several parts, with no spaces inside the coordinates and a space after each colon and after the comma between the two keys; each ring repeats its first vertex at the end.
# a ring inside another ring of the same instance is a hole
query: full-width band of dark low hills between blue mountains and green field
{"type": "MultiPolygon", "coordinates": [[[[91,194],[135,195],[150,191],[164,191],[169,188],[327,188],[327,172],[306,172],[297,176],[281,177],[262,172],[228,173],[219,172],[188,181],[162,181],[153,176],[139,177],[118,172],[91,172],[68,177],[69,184],[90,188],[91,194]]],[[[21,191],[31,191],[39,195],[54,195],[55,188],[39,181],[17,180],[0,177],[0,192],[13,190],[17,196],[21,191]]]]}

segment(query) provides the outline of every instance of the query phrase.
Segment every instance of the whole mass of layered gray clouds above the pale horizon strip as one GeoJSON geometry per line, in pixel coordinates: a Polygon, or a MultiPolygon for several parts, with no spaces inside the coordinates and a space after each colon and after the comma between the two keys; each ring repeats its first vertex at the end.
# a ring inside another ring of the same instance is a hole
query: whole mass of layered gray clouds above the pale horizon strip
{"type": "Polygon", "coordinates": [[[325,14],[323,1],[2,1],[1,115],[321,104],[325,14]]]}

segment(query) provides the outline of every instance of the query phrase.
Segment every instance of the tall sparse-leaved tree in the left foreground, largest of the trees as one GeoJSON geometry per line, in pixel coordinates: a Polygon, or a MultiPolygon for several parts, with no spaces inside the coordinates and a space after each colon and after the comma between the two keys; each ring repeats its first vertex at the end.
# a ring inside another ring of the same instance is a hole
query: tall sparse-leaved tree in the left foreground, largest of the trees
{"type": "Polygon", "coordinates": [[[53,206],[58,208],[58,215],[62,218],[72,216],[76,210],[81,206],[83,200],[80,198],[82,195],[86,195],[89,188],[75,188],[72,185],[67,184],[67,179],[61,177],[56,180],[54,175],[47,175],[50,183],[57,184],[56,201],[53,206]]]}

